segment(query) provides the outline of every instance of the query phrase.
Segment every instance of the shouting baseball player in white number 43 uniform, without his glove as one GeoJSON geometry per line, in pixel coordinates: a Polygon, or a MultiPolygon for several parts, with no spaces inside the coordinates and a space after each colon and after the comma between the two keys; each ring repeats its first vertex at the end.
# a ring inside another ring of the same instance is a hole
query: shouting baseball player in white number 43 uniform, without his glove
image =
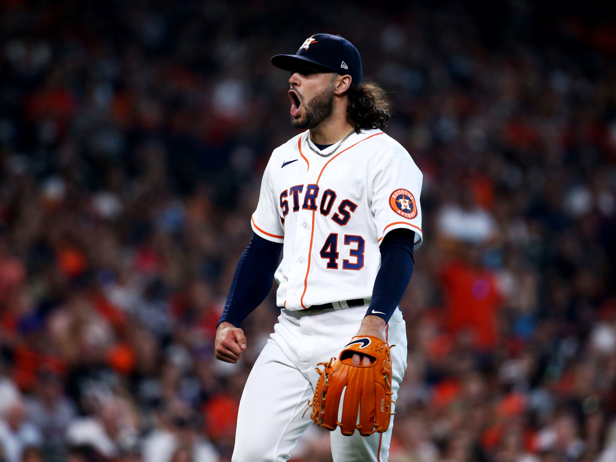
{"type": "MultiPolygon", "coordinates": [[[[234,462],[291,457],[312,424],[302,414],[317,384],[315,367],[353,336],[395,344],[395,400],[407,364],[398,303],[423,238],[421,171],[381,131],[389,104],[382,89],[362,81],[357,49],[340,36],[315,34],[272,63],[291,73],[291,124],[303,131],[276,148],[265,168],[254,235],[217,326],[216,357],[237,362],[246,349],[240,323],[276,279],[280,317],[241,397],[234,462]]],[[[370,363],[359,353],[352,360],[370,363]]],[[[333,460],[386,461],[391,431],[333,431],[333,460]]]]}

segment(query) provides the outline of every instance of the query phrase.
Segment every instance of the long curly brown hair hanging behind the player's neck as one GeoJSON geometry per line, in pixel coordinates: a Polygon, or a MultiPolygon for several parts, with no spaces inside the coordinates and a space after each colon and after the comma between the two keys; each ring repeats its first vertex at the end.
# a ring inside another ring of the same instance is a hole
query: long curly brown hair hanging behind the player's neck
{"type": "Polygon", "coordinates": [[[384,128],[391,118],[391,102],[378,84],[371,81],[352,83],[348,90],[347,112],[355,123],[355,130],[384,128]]]}

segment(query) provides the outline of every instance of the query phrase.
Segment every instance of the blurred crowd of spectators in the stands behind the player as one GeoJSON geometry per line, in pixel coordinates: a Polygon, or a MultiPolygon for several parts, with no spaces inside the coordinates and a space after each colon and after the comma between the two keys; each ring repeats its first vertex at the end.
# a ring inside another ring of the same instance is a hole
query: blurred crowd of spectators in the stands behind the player
{"type": "Polygon", "coordinates": [[[537,3],[0,0],[0,461],[230,460],[278,313],[214,359],[295,134],[269,59],[320,32],[424,172],[390,461],[616,461],[616,16],[537,3]]]}

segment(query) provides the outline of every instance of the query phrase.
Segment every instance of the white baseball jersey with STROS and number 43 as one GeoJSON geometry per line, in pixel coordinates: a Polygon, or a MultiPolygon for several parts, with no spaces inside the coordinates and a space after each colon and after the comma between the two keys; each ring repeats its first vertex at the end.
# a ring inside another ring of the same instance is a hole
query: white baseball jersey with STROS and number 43
{"type": "Polygon", "coordinates": [[[275,278],[277,304],[288,310],[370,299],[383,237],[405,228],[415,232],[415,248],[423,239],[423,176],[402,145],[363,130],[322,157],[307,134],[272,153],[252,217],[255,233],[284,244],[275,278]]]}

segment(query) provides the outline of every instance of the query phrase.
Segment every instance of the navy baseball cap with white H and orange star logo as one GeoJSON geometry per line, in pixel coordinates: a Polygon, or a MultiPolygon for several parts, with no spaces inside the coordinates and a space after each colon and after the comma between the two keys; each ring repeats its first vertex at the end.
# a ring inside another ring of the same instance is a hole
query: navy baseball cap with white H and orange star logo
{"type": "Polygon", "coordinates": [[[339,35],[314,34],[307,38],[294,55],[275,55],[272,64],[293,71],[301,64],[314,64],[340,75],[350,75],[354,83],[362,81],[362,59],[359,51],[339,35]]]}

